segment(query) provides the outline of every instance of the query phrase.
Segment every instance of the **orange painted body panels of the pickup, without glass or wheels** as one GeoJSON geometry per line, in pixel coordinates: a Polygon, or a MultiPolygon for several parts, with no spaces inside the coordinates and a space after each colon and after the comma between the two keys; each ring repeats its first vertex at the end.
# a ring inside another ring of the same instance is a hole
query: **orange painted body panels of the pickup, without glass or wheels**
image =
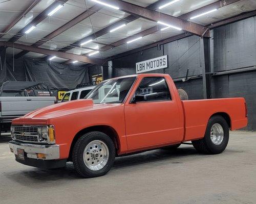
{"type": "Polygon", "coordinates": [[[60,158],[69,157],[76,134],[88,127],[107,125],[117,133],[118,154],[151,149],[204,137],[209,118],[225,113],[231,130],[247,125],[244,98],[181,101],[168,74],[138,74],[123,104],[93,104],[91,99],[72,100],[45,107],[14,119],[12,124],[51,124],[55,127],[60,158]],[[144,77],[164,77],[172,100],[131,104],[144,77]]]}

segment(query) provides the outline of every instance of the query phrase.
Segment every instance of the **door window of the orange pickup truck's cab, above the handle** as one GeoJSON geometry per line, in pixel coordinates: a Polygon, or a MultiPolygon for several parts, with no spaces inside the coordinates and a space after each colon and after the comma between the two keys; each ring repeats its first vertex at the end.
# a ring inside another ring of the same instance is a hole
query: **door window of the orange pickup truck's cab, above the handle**
{"type": "Polygon", "coordinates": [[[143,78],[135,95],[146,96],[146,101],[171,100],[170,92],[163,77],[143,78]]]}

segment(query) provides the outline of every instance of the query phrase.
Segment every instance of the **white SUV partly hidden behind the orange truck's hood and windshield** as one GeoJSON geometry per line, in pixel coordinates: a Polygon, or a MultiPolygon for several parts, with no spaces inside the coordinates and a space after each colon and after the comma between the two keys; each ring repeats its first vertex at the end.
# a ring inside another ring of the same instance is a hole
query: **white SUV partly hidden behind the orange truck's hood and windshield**
{"type": "Polygon", "coordinates": [[[94,87],[95,86],[88,86],[88,87],[83,87],[83,88],[67,91],[60,102],[66,102],[66,101],[70,101],[70,100],[82,99],[82,98],[86,97],[86,95],[94,87]]]}

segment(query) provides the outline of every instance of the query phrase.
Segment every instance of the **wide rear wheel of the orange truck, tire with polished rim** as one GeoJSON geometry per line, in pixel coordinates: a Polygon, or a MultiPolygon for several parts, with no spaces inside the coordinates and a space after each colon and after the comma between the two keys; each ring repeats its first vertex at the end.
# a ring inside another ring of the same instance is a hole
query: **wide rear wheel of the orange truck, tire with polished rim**
{"type": "Polygon", "coordinates": [[[209,119],[204,138],[194,140],[192,144],[200,153],[215,155],[225,150],[228,139],[229,126],[227,121],[222,116],[216,115],[209,119]]]}

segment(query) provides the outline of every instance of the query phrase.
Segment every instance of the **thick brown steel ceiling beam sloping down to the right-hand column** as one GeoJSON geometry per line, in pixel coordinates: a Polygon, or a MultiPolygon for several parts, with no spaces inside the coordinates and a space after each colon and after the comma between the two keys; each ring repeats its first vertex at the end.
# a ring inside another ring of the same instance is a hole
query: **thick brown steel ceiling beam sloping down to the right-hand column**
{"type": "Polygon", "coordinates": [[[205,32],[207,28],[204,25],[187,21],[175,16],[167,15],[159,11],[147,9],[135,4],[124,2],[121,0],[104,0],[105,3],[119,7],[123,12],[130,13],[140,18],[151,20],[154,22],[162,21],[175,27],[181,28],[184,31],[198,36],[209,37],[209,33],[205,32]]]}

